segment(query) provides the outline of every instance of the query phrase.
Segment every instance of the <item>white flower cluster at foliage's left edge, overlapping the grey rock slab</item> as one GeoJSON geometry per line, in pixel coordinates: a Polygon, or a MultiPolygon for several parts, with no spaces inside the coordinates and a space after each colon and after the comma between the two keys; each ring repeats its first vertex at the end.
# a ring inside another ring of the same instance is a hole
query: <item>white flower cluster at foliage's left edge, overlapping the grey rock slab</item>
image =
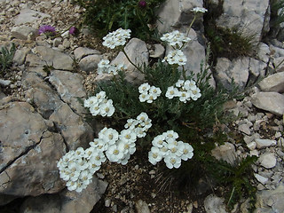
{"type": "Polygon", "coordinates": [[[100,91],[95,96],[85,99],[83,106],[90,108],[92,115],[101,115],[110,117],[114,114],[114,105],[112,99],[106,98],[106,91],[100,91]]]}

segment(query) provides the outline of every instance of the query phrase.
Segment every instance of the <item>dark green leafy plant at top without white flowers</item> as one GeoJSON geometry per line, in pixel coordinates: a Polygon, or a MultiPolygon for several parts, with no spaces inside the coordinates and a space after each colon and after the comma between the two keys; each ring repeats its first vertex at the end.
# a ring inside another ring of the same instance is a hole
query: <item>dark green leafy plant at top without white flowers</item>
{"type": "Polygon", "coordinates": [[[99,36],[116,28],[130,28],[132,35],[149,39],[154,35],[150,26],[157,20],[156,11],[164,0],[73,0],[85,9],[83,25],[96,30],[99,36]]]}

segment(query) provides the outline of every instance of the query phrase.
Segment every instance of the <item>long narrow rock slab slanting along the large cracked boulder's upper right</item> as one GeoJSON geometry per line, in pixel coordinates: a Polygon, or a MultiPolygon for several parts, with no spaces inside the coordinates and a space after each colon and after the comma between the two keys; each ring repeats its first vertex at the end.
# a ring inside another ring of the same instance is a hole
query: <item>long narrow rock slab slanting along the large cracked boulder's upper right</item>
{"type": "Polygon", "coordinates": [[[93,130],[83,121],[83,117],[59,99],[59,94],[35,73],[25,75],[24,79],[23,87],[28,89],[26,99],[37,107],[45,119],[55,123],[68,148],[74,150],[79,146],[87,147],[93,139],[93,130]]]}

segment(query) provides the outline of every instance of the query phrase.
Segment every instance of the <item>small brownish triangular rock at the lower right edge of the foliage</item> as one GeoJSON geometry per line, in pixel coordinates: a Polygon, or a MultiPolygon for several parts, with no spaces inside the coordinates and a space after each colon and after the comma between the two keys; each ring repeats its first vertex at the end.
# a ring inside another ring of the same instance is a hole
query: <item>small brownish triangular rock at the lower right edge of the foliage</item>
{"type": "Polygon", "coordinates": [[[211,151],[211,154],[217,160],[223,160],[225,162],[233,164],[236,160],[237,154],[233,144],[226,142],[225,145],[217,146],[211,151]]]}

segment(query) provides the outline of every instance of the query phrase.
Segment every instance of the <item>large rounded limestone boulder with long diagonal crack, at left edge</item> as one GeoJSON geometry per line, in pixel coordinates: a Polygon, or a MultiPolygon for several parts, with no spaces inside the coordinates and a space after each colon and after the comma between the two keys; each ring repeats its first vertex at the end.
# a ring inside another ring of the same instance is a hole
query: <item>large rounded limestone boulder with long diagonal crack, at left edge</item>
{"type": "Polygon", "coordinates": [[[49,131],[43,117],[26,102],[9,103],[0,117],[0,194],[59,192],[64,183],[56,164],[66,153],[63,138],[49,131]]]}

